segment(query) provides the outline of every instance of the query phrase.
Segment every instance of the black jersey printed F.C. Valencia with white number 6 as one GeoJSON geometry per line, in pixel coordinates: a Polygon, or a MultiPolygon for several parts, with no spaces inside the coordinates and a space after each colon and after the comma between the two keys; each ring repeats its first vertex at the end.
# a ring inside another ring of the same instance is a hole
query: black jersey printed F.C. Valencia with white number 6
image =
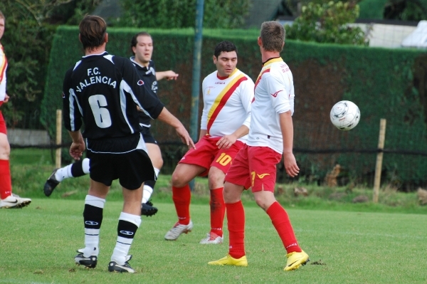
{"type": "Polygon", "coordinates": [[[107,52],[84,56],[65,74],[65,128],[80,130],[83,119],[83,137],[88,139],[88,149],[91,140],[95,146],[102,141],[117,144],[120,138],[139,137],[137,105],[152,119],[164,107],[127,58],[107,52]]]}

